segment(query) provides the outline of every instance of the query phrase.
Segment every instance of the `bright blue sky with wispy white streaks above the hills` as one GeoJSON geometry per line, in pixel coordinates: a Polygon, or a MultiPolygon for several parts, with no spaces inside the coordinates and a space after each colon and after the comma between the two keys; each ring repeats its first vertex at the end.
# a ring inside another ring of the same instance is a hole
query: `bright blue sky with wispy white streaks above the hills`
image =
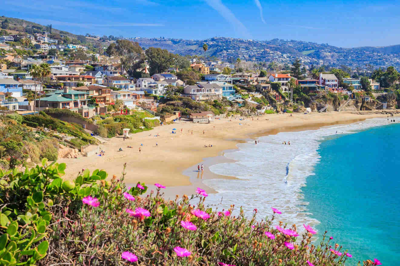
{"type": "Polygon", "coordinates": [[[5,0],[2,9],[0,15],[83,35],[400,44],[400,8],[386,0],[5,0]]]}

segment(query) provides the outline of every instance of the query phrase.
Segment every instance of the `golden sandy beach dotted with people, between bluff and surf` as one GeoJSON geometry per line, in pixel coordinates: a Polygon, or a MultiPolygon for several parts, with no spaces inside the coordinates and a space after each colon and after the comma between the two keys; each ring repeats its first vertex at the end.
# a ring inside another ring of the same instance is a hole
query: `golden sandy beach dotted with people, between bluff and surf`
{"type": "MultiPolygon", "coordinates": [[[[318,129],[334,124],[349,124],[374,117],[386,117],[379,112],[327,112],[300,114],[265,114],[254,118],[222,118],[210,124],[181,122],[158,126],[150,131],[131,134],[131,138],[110,139],[100,145],[104,156],[80,157],[78,159],[59,159],[67,165],[65,178],[73,179],[82,169],[104,169],[108,177],[122,173],[126,163],[126,183],[161,183],[167,187],[166,195],[190,193],[196,186],[202,185],[202,179],[234,178],[218,176],[208,170],[208,166],[220,162],[229,162],[223,152],[236,148],[236,144],[258,136],[278,132],[318,129]],[[176,134],[172,129],[176,128],[176,134]],[[204,131],[204,133],[203,133],[204,131]],[[158,136],[159,135],[159,136],[158,136]],[[143,146],[141,146],[143,144],[143,146]],[[158,145],[156,145],[158,144],[158,145]],[[210,148],[204,145],[212,144],[210,148]],[[127,148],[132,146],[132,148],[127,148]],[[141,149],[139,153],[139,147],[141,149]],[[122,148],[122,152],[118,149],[122,148]],[[197,165],[204,164],[204,172],[197,171],[197,165]],[[179,186],[179,187],[178,187],[179,186]],[[178,187],[178,188],[177,188],[178,187]]],[[[282,140],[284,141],[284,140],[282,140]]],[[[287,141],[287,140],[286,140],[287,141]]],[[[204,187],[204,185],[202,185],[204,187]]],[[[208,190],[212,193],[212,190],[208,190]]]]}

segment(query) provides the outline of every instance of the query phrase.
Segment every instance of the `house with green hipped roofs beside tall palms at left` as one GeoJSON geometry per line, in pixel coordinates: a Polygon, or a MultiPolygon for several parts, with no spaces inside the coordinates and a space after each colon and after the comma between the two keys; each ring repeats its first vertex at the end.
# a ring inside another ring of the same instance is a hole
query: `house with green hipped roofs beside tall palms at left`
{"type": "Polygon", "coordinates": [[[39,99],[37,99],[36,107],[62,109],[82,108],[88,104],[87,95],[88,93],[83,91],[74,91],[65,88],[47,93],[46,97],[40,99],[40,106],[39,99]]]}

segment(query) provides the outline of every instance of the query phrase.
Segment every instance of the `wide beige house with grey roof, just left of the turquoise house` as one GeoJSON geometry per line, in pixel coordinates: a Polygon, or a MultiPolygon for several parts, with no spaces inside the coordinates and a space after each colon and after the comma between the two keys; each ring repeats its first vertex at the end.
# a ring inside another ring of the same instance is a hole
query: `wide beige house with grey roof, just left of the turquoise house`
{"type": "Polygon", "coordinates": [[[199,83],[186,85],[182,96],[190,97],[193,100],[214,100],[222,98],[222,88],[218,84],[199,83]]]}

